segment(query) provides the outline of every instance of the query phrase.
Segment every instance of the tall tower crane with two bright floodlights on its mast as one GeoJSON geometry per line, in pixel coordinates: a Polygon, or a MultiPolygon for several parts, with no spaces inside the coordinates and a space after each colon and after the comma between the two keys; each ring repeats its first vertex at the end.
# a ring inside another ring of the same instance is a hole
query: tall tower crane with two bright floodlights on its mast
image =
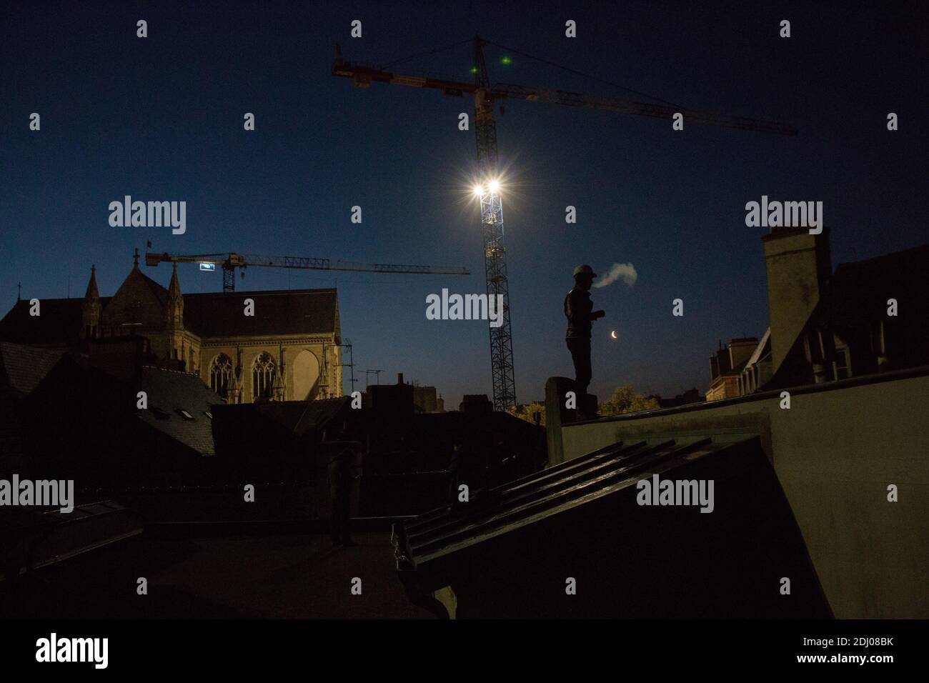
{"type": "MultiPolygon", "coordinates": [[[[441,90],[452,97],[474,97],[475,133],[478,138],[478,186],[475,194],[480,200],[481,230],[484,240],[484,269],[487,278],[488,296],[502,295],[504,301],[503,322],[491,327],[491,374],[493,378],[493,407],[506,410],[516,405],[516,380],[513,367],[513,335],[510,331],[509,281],[506,273],[506,248],[504,245],[504,211],[501,199],[500,176],[497,164],[497,128],[493,107],[506,99],[522,99],[530,102],[549,102],[569,107],[588,107],[623,114],[651,116],[671,121],[674,114],[683,114],[687,123],[720,125],[728,128],[760,131],[778,135],[796,135],[791,125],[729,116],[713,112],[701,112],[675,105],[649,104],[622,99],[610,99],[569,92],[545,90],[526,85],[500,83],[491,85],[484,61],[483,46],[497,45],[475,36],[474,83],[430,78],[388,72],[384,69],[356,64],[343,59],[342,50],[336,44],[333,75],[350,78],[356,87],[369,87],[372,83],[407,85],[417,88],[441,90]]],[[[455,44],[460,45],[460,44],[455,44]]],[[[438,50],[433,50],[436,52],[438,50]]],[[[517,50],[510,50],[517,52],[517,50]]],[[[530,57],[527,55],[527,57],[530,57]]],[[[537,59],[537,58],[532,58],[537,59]]],[[[544,61],[544,60],[542,60],[544,61]]],[[[549,62],[551,63],[551,62],[549,62]]]]}

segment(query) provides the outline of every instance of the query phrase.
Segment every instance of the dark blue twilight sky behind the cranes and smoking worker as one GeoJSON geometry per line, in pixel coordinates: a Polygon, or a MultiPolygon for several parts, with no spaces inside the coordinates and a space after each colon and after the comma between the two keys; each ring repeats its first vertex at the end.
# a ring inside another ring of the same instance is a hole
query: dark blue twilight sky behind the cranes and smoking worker
{"type": "MultiPolygon", "coordinates": [[[[358,369],[434,384],[456,406],[491,393],[486,323],[425,319],[442,287],[483,292],[478,207],[467,195],[467,99],[330,75],[475,33],[695,108],[774,118],[794,138],[510,102],[508,168],[517,398],[571,374],[562,299],[571,269],[631,262],[638,282],[595,290],[592,390],[705,390],[719,338],[766,327],[762,194],[824,203],[833,265],[927,242],[926,18],[922,3],[7,3],[0,10],[0,298],[101,295],[134,247],[463,265],[467,278],[338,274],[358,369]],[[699,7],[698,7],[699,6],[699,7]],[[136,37],[136,21],[149,37],[136,37]],[[363,37],[349,37],[351,20],[363,37]],[[564,36],[576,20],[578,37],[564,36]],[[792,37],[778,36],[779,20],[792,37]],[[28,129],[39,112],[42,130],[28,129]],[[255,112],[255,132],[242,130],[255,112]],[[900,117],[888,132],[887,112],[900,117]],[[187,232],[111,228],[108,204],[187,202],[187,232]],[[362,207],[352,224],[350,207],[362,207]],[[568,225],[565,206],[577,207],[568,225]],[[671,315],[675,297],[685,316],[671,315]],[[618,330],[619,341],[608,339],[618,330]]],[[[488,48],[491,80],[642,99],[488,48]]],[[[396,68],[469,80],[468,46],[396,68]]],[[[167,283],[170,269],[146,269],[167,283]]],[[[221,275],[179,269],[187,292],[221,275]]],[[[250,269],[239,289],[331,286],[334,274],[250,269]]],[[[359,373],[360,386],[364,374],[359,373]]],[[[346,388],[348,388],[346,386],[346,388]]]]}

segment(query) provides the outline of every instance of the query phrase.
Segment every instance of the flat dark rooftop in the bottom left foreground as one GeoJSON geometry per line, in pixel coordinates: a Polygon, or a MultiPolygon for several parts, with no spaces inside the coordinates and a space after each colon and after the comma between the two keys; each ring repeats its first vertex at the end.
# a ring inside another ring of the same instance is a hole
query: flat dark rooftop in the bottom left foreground
{"type": "Polygon", "coordinates": [[[84,619],[432,618],[407,600],[389,533],[356,533],[355,540],[335,549],[325,534],[176,540],[146,533],[24,577],[0,611],[84,619]],[[144,599],[136,595],[138,576],[148,579],[144,599]],[[354,577],[361,595],[350,592],[354,577]]]}

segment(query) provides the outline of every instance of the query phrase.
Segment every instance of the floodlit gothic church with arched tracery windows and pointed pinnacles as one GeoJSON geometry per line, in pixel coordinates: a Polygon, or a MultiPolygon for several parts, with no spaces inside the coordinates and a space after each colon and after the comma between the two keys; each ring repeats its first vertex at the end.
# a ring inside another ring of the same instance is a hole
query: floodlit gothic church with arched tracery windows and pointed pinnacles
{"type": "Polygon", "coordinates": [[[78,350],[122,336],[147,340],[154,364],[197,374],[229,403],[342,396],[342,342],[334,289],[181,293],[177,264],[167,289],[133,269],[99,296],[91,268],[84,298],[28,300],[0,320],[0,340],[78,350]],[[252,299],[254,315],[245,315],[252,299]]]}

